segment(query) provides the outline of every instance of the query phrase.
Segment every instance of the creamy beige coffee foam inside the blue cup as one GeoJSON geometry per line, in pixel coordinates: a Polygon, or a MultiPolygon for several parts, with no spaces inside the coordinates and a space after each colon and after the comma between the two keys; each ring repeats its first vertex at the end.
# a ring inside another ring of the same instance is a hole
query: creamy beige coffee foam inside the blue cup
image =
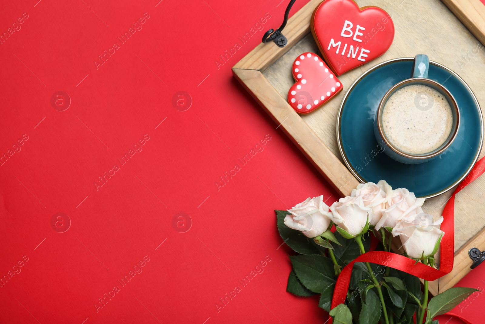
{"type": "Polygon", "coordinates": [[[438,149],[453,127],[448,100],[427,85],[406,85],[394,92],[382,110],[382,126],[399,150],[425,154],[438,149]]]}

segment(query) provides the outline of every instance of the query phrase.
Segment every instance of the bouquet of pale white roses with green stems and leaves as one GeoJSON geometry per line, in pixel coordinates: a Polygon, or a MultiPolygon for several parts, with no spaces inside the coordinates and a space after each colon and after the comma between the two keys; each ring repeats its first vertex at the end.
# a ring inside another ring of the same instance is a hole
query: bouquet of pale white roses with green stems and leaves
{"type": "Polygon", "coordinates": [[[436,267],[434,256],[445,235],[440,230],[443,217],[434,221],[423,212],[423,203],[424,198],[405,188],[393,190],[381,180],[358,185],[330,207],[319,196],[288,211],[276,210],[281,238],[299,253],[290,256],[287,291],[302,297],[321,294],[319,307],[336,324],[437,324],[435,316],[478,290],[451,288],[428,303],[428,282],[422,288],[418,277],[393,269],[392,262],[356,263],[345,304],[330,309],[342,268],[369,251],[370,235],[382,239],[378,249],[384,251],[391,251],[392,238],[399,236],[397,248],[404,256],[436,267]]]}

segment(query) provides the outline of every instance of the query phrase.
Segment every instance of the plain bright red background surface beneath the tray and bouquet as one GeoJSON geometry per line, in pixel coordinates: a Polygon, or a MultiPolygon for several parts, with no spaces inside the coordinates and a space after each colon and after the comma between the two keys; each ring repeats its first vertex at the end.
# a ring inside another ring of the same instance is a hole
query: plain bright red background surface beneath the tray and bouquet
{"type": "Polygon", "coordinates": [[[0,155],[28,136],[0,166],[0,277],[28,258],[0,288],[1,323],[325,323],[317,297],[285,291],[290,251],[273,209],[336,195],[230,70],[281,24],[286,1],[37,1],[0,11],[0,33],[28,15],[0,45],[0,155]],[[65,111],[51,106],[57,91],[71,99],[65,111]],[[172,104],[178,91],[191,97],[186,111],[172,104]],[[114,164],[120,170],[97,188],[114,164]],[[51,226],[59,212],[71,221],[64,233],[51,226]],[[192,220],[185,233],[172,223],[180,212],[192,220]],[[120,291],[97,308],[113,286],[120,291]]]}

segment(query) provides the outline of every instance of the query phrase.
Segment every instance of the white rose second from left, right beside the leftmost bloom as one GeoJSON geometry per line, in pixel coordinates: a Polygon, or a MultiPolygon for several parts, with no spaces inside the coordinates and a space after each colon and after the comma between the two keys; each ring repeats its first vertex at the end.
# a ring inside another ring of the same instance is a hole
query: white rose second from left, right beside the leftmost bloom
{"type": "Polygon", "coordinates": [[[368,219],[372,217],[372,208],[365,207],[360,196],[340,198],[330,206],[330,210],[328,217],[352,236],[362,233],[368,219]]]}

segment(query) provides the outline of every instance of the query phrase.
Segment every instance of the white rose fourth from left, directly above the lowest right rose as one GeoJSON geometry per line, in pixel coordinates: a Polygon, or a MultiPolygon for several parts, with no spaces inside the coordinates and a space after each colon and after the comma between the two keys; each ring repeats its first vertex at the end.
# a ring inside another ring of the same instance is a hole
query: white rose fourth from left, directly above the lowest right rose
{"type": "Polygon", "coordinates": [[[386,208],[381,210],[382,217],[375,225],[375,229],[379,230],[383,226],[394,228],[403,217],[422,213],[423,203],[424,198],[416,198],[414,192],[409,192],[405,188],[393,190],[385,204],[386,208]]]}

